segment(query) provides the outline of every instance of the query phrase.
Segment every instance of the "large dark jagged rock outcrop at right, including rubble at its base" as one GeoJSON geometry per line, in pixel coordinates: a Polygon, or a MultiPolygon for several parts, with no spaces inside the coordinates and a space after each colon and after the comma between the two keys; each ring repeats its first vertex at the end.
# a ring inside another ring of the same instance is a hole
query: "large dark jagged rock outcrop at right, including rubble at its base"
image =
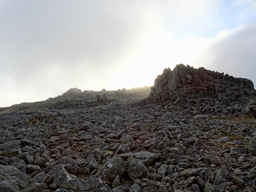
{"type": "Polygon", "coordinates": [[[157,76],[148,104],[171,101],[184,108],[195,107],[199,113],[213,113],[218,108],[219,112],[234,114],[253,111],[254,103],[245,110],[244,106],[255,96],[251,80],[179,64],[157,76]]]}

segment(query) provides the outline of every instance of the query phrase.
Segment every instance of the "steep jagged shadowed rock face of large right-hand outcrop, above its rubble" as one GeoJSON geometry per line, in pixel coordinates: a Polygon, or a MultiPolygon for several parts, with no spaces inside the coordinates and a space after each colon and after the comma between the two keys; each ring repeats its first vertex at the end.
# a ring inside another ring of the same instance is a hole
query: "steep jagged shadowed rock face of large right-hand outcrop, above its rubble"
{"type": "Polygon", "coordinates": [[[223,104],[230,101],[248,104],[249,100],[244,97],[256,95],[251,80],[179,64],[173,70],[165,68],[163,74],[157,76],[154,86],[151,87],[148,103],[174,101],[177,99],[177,92],[180,92],[180,95],[186,93],[186,96],[200,92],[200,97],[206,96],[220,101],[224,99],[223,104]]]}

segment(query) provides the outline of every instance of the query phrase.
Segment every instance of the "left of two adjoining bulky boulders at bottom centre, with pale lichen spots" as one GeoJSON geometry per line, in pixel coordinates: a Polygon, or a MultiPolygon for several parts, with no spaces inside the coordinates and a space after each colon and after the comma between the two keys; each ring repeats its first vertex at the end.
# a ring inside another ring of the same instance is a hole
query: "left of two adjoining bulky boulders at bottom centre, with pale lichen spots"
{"type": "Polygon", "coordinates": [[[114,156],[100,167],[96,176],[104,181],[113,181],[116,178],[116,175],[119,175],[119,177],[122,178],[126,167],[127,163],[121,157],[114,156]]]}

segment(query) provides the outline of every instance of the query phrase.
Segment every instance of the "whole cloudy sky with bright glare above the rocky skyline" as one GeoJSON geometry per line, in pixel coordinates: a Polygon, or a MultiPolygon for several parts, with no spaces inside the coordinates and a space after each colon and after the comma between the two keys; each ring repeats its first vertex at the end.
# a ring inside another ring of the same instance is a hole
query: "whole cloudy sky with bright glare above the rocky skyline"
{"type": "Polygon", "coordinates": [[[0,107],[152,86],[164,68],[256,85],[256,0],[0,0],[0,107]]]}

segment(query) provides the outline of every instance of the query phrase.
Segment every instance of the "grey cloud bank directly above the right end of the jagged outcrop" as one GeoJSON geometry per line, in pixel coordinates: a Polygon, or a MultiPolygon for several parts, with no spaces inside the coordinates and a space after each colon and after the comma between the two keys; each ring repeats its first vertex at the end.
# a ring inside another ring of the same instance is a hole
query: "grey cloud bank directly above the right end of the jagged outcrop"
{"type": "Polygon", "coordinates": [[[220,31],[193,62],[197,66],[252,80],[256,85],[256,25],[220,31]]]}

